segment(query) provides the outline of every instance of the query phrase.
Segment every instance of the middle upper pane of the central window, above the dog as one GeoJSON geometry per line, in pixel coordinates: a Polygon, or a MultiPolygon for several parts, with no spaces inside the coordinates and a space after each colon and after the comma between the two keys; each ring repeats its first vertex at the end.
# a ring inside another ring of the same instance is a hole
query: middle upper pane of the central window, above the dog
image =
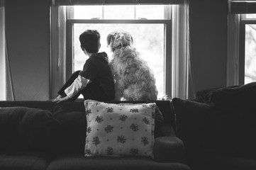
{"type": "Polygon", "coordinates": [[[104,6],[104,19],[134,19],[134,6],[104,6]]]}

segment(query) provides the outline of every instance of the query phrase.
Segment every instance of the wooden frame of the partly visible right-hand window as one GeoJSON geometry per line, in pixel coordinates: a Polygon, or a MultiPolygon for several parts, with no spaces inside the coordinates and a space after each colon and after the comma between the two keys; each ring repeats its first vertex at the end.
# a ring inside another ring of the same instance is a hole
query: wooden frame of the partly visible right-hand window
{"type": "Polygon", "coordinates": [[[245,84],[245,25],[256,24],[256,19],[245,14],[228,14],[227,86],[245,84]]]}

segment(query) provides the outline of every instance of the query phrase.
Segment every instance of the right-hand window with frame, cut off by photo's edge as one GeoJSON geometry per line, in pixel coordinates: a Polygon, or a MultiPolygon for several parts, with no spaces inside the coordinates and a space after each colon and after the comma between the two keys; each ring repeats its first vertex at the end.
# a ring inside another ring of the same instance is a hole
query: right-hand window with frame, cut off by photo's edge
{"type": "Polygon", "coordinates": [[[229,85],[248,84],[256,81],[256,15],[236,14],[235,23],[238,38],[233,43],[237,43],[238,49],[233,60],[238,69],[237,82],[229,85]]]}

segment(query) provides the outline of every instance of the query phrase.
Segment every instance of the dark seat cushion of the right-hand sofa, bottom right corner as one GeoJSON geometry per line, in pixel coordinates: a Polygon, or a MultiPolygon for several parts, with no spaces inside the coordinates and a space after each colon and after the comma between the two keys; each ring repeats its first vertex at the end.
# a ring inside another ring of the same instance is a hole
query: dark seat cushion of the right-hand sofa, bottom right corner
{"type": "Polygon", "coordinates": [[[198,170],[252,170],[256,169],[256,154],[193,154],[189,156],[189,166],[198,170]]]}

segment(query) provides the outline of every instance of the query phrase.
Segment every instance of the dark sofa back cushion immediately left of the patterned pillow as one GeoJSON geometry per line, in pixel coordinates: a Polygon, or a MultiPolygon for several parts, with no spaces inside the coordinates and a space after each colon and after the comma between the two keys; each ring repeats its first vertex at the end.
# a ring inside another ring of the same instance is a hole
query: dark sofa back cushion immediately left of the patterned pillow
{"type": "MultiPolygon", "coordinates": [[[[77,102],[75,102],[77,103],[77,102]]],[[[57,153],[84,154],[87,131],[85,111],[72,111],[71,103],[60,103],[55,106],[54,116],[60,121],[57,135],[57,153]]]]}

